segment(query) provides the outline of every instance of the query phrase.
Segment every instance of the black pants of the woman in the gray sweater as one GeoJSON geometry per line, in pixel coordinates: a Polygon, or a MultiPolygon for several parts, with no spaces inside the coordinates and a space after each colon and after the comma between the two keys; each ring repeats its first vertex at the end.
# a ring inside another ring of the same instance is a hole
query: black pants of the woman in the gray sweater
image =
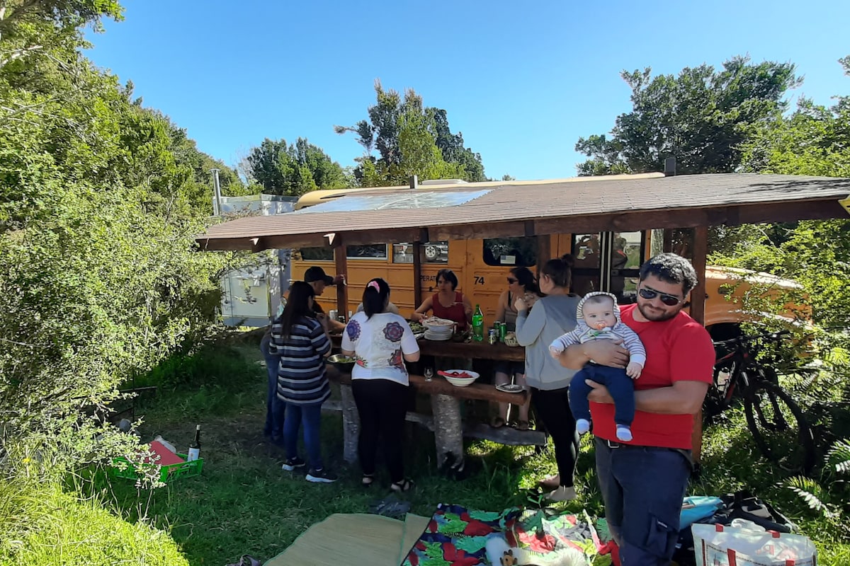
{"type": "Polygon", "coordinates": [[[569,390],[532,388],[531,401],[537,418],[546,427],[555,445],[555,462],[558,464],[561,485],[572,487],[575,461],[579,454],[579,435],[575,432],[575,418],[570,411],[569,390]]]}

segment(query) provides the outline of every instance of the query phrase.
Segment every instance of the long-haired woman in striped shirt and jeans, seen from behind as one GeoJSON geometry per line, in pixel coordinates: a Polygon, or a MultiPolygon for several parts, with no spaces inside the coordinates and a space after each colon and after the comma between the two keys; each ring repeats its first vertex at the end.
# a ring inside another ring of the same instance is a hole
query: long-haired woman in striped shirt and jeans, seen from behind
{"type": "Polygon", "coordinates": [[[283,469],[292,471],[307,464],[297,452],[298,429],[303,422],[310,464],[307,481],[331,483],[337,476],[322,465],[320,444],[321,404],[331,395],[324,361],[331,353],[331,340],[314,316],[314,295],[309,283],[292,283],[286,308],[272,324],[269,352],[280,356],[277,396],[286,402],[283,469]]]}

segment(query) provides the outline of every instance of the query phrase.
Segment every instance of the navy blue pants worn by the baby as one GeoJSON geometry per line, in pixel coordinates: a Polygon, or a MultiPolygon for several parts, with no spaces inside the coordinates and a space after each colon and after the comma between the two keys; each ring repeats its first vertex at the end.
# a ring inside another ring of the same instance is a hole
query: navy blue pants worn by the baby
{"type": "Polygon", "coordinates": [[[635,419],[635,385],[632,378],[626,375],[626,370],[588,363],[575,373],[570,380],[570,410],[573,417],[589,421],[590,403],[587,402],[587,394],[592,388],[585,383],[585,379],[607,387],[614,399],[614,422],[632,426],[635,419]]]}

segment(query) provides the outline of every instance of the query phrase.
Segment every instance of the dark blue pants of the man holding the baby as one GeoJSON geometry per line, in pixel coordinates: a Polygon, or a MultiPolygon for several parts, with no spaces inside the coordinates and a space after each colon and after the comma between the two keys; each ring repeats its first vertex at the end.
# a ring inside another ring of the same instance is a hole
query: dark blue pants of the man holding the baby
{"type": "Polygon", "coordinates": [[[605,519],[623,566],[667,566],[679,537],[689,451],[600,438],[595,445],[605,519]]]}

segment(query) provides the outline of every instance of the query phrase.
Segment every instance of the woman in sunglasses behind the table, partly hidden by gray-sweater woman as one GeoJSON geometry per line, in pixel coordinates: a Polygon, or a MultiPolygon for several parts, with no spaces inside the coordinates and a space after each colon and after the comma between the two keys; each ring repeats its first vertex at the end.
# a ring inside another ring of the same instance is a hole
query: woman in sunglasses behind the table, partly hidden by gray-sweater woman
{"type": "MultiPolygon", "coordinates": [[[[517,329],[517,309],[513,303],[522,297],[526,305],[531,308],[536,300],[540,298],[540,289],[537,288],[537,282],[528,267],[513,267],[507,275],[507,289],[502,291],[499,297],[499,305],[496,306],[496,322],[504,322],[507,331],[514,332],[517,329]]],[[[515,383],[522,385],[524,389],[528,389],[525,384],[525,363],[524,361],[497,361],[495,367],[494,384],[504,385],[515,383]],[[514,376],[516,381],[513,381],[514,376]]],[[[517,429],[529,429],[529,406],[530,399],[523,406],[519,407],[519,419],[517,420],[517,429]]],[[[499,414],[493,417],[490,421],[490,426],[494,429],[503,427],[507,423],[507,403],[499,403],[499,414]]]]}

